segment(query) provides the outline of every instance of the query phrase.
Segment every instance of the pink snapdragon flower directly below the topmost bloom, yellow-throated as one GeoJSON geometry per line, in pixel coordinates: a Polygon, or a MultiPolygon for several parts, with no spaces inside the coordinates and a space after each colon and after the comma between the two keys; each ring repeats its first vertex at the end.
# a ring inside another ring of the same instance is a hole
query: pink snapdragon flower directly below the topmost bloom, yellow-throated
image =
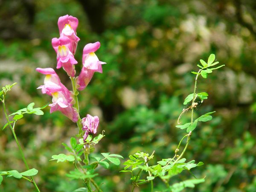
{"type": "Polygon", "coordinates": [[[63,67],[67,74],[74,77],[76,70],[74,64],[77,64],[72,52],[70,52],[70,39],[63,36],[52,39],[52,47],[57,53],[57,69],[63,67]]]}

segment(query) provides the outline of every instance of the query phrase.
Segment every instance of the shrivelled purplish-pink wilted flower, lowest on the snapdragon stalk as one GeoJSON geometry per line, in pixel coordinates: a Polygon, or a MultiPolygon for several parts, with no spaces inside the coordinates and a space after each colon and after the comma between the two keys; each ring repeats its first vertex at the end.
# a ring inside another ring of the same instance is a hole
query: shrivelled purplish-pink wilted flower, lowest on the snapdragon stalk
{"type": "Polygon", "coordinates": [[[84,132],[84,140],[88,137],[89,133],[96,134],[97,128],[99,126],[99,117],[98,116],[91,116],[87,114],[86,117],[82,119],[83,124],[83,131],[84,132]]]}

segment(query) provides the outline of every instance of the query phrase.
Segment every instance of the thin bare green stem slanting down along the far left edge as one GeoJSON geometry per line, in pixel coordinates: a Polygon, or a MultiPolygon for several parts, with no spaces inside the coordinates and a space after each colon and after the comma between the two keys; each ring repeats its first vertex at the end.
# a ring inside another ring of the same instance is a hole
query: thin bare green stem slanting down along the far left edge
{"type": "MultiPolygon", "coordinates": [[[[6,112],[6,105],[5,105],[5,102],[4,102],[4,101],[5,101],[5,96],[3,95],[3,100],[2,100],[2,102],[3,102],[3,111],[4,111],[4,114],[5,114],[6,120],[7,120],[8,124],[9,124],[9,127],[10,127],[11,131],[12,131],[12,134],[13,134],[13,137],[14,137],[14,139],[15,139],[15,141],[16,141],[16,144],[17,144],[17,146],[18,146],[18,148],[19,148],[19,150],[20,150],[20,154],[21,154],[22,160],[23,160],[23,162],[24,162],[24,164],[25,164],[25,166],[26,166],[26,169],[29,170],[28,163],[26,162],[26,158],[25,158],[25,156],[24,156],[24,154],[23,154],[22,148],[21,148],[20,143],[19,143],[19,141],[18,141],[18,139],[17,139],[17,136],[16,136],[16,134],[15,134],[14,127],[12,127],[12,124],[11,124],[11,122],[10,122],[10,120],[9,120],[8,115],[7,115],[7,112],[6,112]]],[[[35,180],[34,180],[34,178],[33,178],[32,176],[31,176],[31,180],[32,180],[33,185],[35,186],[35,189],[36,189],[38,192],[40,192],[40,190],[38,189],[38,186],[37,186],[37,184],[35,183],[35,180]]]]}

